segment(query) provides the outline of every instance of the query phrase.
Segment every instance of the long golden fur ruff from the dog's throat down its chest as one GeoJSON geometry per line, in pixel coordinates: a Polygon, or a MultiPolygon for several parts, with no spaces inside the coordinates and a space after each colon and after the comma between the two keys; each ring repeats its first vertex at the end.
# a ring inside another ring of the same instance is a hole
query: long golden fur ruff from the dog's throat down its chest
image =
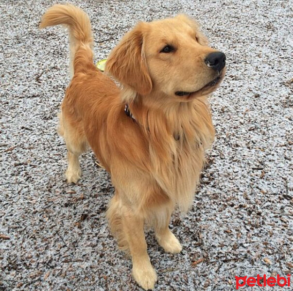
{"type": "Polygon", "coordinates": [[[158,185],[186,211],[202,170],[204,150],[214,136],[207,97],[186,103],[159,97],[137,96],[129,108],[149,143],[152,174],[158,185]]]}

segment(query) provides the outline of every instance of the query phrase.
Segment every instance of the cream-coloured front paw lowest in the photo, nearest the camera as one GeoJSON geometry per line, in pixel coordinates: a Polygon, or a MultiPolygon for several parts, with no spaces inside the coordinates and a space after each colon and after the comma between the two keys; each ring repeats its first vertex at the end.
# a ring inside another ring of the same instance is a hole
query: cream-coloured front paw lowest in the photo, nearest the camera
{"type": "Polygon", "coordinates": [[[155,269],[150,261],[137,263],[133,265],[132,275],[138,285],[144,290],[154,290],[157,280],[155,269]]]}

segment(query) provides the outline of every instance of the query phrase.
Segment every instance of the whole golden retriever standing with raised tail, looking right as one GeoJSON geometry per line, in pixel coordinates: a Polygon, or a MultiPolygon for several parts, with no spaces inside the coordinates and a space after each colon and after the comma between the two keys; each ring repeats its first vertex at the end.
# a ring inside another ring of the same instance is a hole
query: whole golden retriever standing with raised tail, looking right
{"type": "Polygon", "coordinates": [[[144,225],[154,227],[166,252],[182,250],[168,225],[175,207],[185,212],[192,204],[214,137],[207,97],[224,78],[225,55],[208,46],[194,20],[178,15],[139,22],[102,73],[93,64],[88,16],[54,5],[40,27],[57,24],[69,28],[71,81],[59,127],[68,149],[67,181],[81,177],[79,155],[90,146],[115,187],[106,212],[111,231],[130,253],[138,285],[154,289],[144,225]]]}

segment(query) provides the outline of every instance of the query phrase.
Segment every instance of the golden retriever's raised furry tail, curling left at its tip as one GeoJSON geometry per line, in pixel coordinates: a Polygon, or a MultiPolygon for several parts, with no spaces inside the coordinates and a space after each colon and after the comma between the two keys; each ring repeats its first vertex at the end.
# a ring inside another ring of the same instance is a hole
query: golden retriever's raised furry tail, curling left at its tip
{"type": "Polygon", "coordinates": [[[55,4],[43,15],[39,28],[63,24],[69,28],[69,71],[70,79],[75,72],[93,64],[93,37],[86,13],[71,4],[55,4]],[[81,53],[77,53],[82,50],[81,53]]]}

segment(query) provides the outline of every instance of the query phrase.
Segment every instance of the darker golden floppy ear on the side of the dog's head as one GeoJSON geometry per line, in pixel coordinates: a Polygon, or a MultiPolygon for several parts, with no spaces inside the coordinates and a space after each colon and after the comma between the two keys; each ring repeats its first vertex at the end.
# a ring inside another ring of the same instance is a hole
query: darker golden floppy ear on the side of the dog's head
{"type": "Polygon", "coordinates": [[[110,53],[105,71],[120,81],[123,87],[133,89],[140,95],[149,94],[152,80],[144,56],[144,35],[147,23],[140,22],[126,33],[110,53]]]}

